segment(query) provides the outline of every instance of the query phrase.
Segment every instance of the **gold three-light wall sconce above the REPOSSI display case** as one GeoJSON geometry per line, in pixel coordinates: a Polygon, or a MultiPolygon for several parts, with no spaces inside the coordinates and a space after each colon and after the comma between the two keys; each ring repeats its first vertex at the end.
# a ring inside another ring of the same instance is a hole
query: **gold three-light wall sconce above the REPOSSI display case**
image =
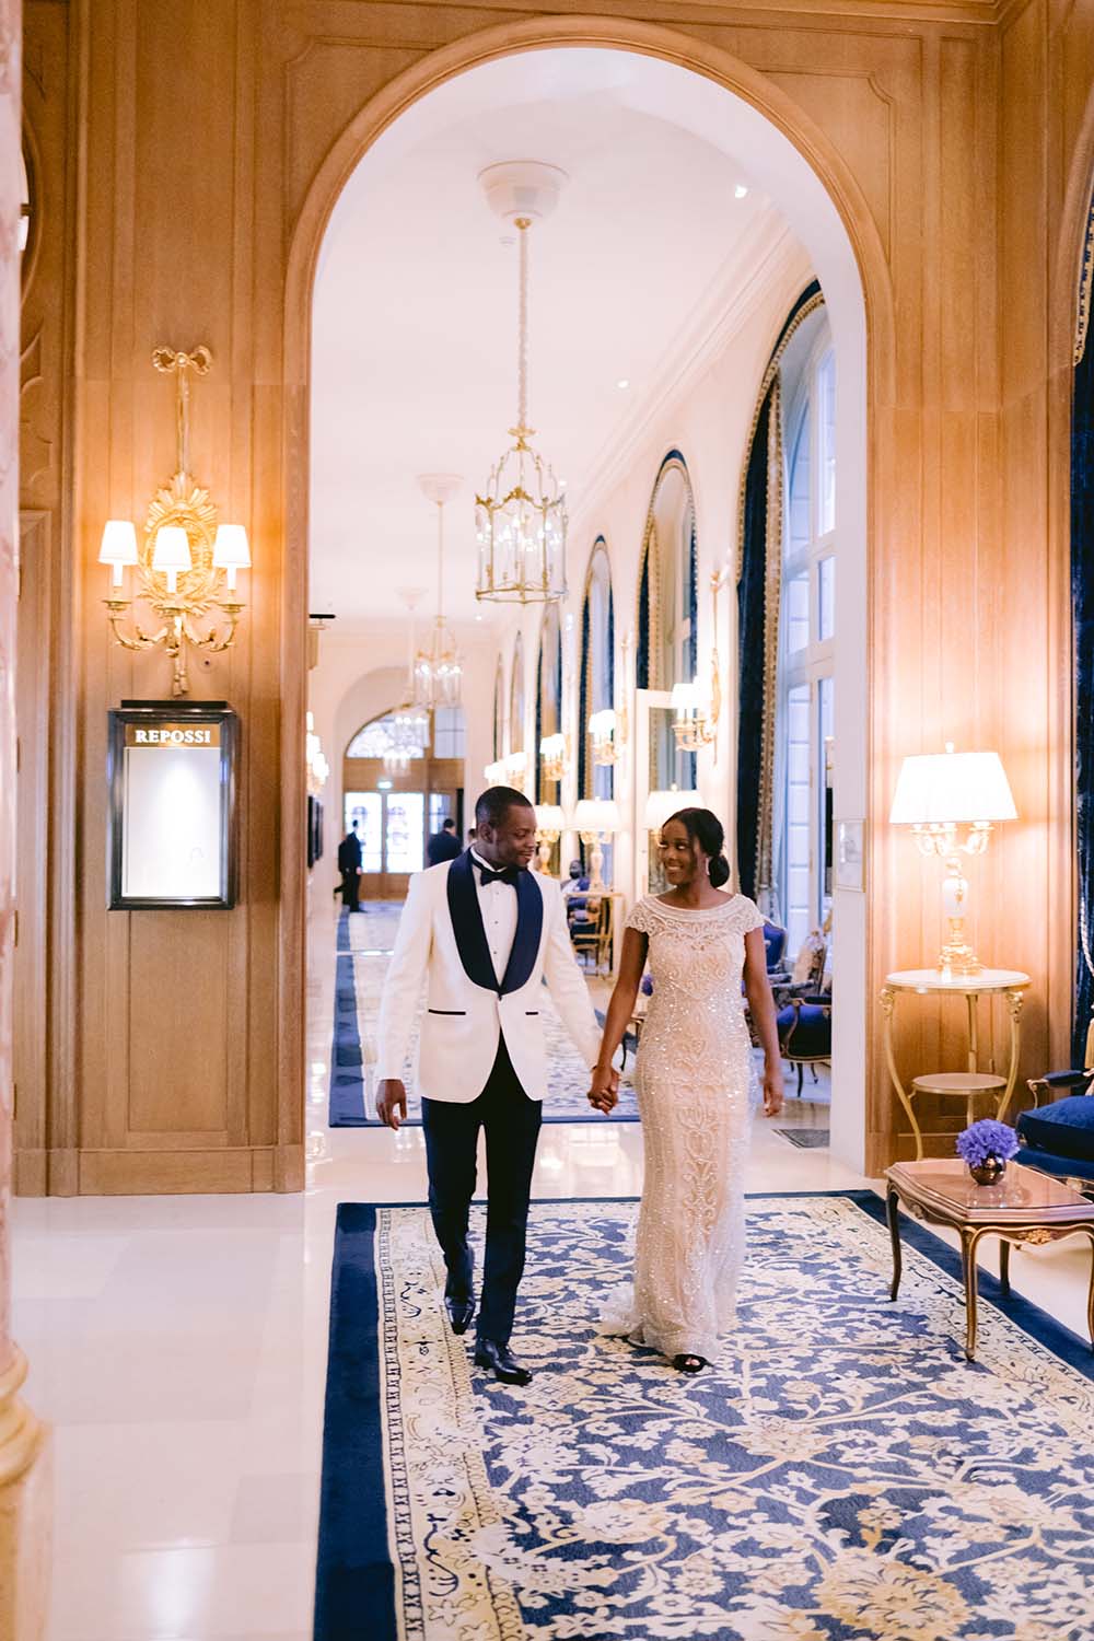
{"type": "Polygon", "coordinates": [[[153,366],[175,379],[175,459],[174,476],[156,492],[148,507],[138,543],[136,527],[128,519],[108,519],[103,527],[98,563],[110,565],[110,597],[103,599],[107,619],[123,650],[164,647],[172,663],[171,694],[185,696],[190,679],[185,650],[220,655],[231,648],[239,615],[246,606],[236,597],[236,576],[251,568],[251,546],[241,523],[220,523],[220,514],[208,491],[190,476],[190,373],[208,376],[213,356],[208,348],[180,353],[156,348],[153,366]],[[130,632],[121,620],[131,609],[125,576],[136,574],[136,597],[148,604],[162,625],[144,632],[133,622],[130,632]],[[210,609],[223,612],[226,625],[198,632],[197,622],[210,609]]]}

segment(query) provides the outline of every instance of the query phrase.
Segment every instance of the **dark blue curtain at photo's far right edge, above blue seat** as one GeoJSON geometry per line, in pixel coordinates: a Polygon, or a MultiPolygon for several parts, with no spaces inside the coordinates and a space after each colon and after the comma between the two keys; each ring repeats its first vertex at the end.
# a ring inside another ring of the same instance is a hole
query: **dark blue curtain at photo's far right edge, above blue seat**
{"type": "MultiPolygon", "coordinates": [[[[1094,225],[1094,213],[1092,213],[1094,225]]],[[[1091,228],[1086,258],[1091,256],[1091,228]]],[[[1089,292],[1089,266],[1083,281],[1089,292]]],[[[1084,304],[1086,305],[1086,304],[1084,304]]],[[[1086,325],[1084,305],[1079,325],[1086,325]]],[[[1089,338],[1074,368],[1071,404],[1071,607],[1074,619],[1074,820],[1078,927],[1073,1065],[1084,1063],[1094,1008],[1094,348],[1089,338]]],[[[1081,346],[1081,343],[1079,343],[1081,346]]],[[[1076,351],[1079,351],[1076,348],[1076,351]]]]}

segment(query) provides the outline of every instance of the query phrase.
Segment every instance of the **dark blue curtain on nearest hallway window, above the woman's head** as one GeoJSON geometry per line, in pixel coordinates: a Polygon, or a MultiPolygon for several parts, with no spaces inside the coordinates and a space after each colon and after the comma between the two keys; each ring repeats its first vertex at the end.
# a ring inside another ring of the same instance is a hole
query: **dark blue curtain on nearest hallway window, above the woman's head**
{"type": "Polygon", "coordinates": [[[764,592],[768,581],[768,427],[771,389],[764,395],[745,474],[745,550],[736,583],[736,870],[741,894],[756,896],[759,850],[759,773],[764,712],[764,592]]]}

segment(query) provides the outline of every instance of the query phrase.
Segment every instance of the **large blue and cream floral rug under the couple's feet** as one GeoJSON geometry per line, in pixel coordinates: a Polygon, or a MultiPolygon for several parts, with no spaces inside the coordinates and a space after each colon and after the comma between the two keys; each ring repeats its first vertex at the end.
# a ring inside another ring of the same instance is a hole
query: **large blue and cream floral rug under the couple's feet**
{"type": "Polygon", "coordinates": [[[904,1223],[891,1305],[877,1196],[761,1196],[682,1378],[597,1332],[633,1216],[533,1204],[520,1392],[448,1331],[428,1211],[338,1209],[317,1641],[1091,1641],[1084,1341],[981,1275],[966,1362],[946,1244],[904,1223]]]}

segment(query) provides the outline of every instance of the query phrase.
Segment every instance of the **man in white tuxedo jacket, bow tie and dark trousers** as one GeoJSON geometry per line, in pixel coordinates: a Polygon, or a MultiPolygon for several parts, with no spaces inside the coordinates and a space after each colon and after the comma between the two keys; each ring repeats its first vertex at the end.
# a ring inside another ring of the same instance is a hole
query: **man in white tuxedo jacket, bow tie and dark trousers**
{"type": "Polygon", "coordinates": [[[453,1332],[474,1316],[467,1209],[485,1132],[487,1221],[476,1365],[507,1385],[531,1374],[508,1349],[525,1268],[531,1170],[546,1091],[540,1003],[546,978],[586,1065],[600,1029],[569,944],[558,883],[528,871],[536,817],[523,793],[492,786],[476,804],[477,837],[456,860],[410,880],[379,1022],[377,1114],[407,1116],[402,1068],[428,981],[418,1086],[430,1173],[430,1213],[444,1254],[453,1332]]]}

